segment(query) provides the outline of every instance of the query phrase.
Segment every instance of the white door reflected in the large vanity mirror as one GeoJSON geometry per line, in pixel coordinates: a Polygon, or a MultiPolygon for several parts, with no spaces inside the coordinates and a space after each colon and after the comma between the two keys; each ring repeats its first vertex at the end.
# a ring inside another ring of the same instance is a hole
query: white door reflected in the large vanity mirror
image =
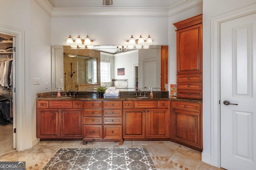
{"type": "Polygon", "coordinates": [[[144,62],[144,88],[156,88],[156,61],[144,62]]]}

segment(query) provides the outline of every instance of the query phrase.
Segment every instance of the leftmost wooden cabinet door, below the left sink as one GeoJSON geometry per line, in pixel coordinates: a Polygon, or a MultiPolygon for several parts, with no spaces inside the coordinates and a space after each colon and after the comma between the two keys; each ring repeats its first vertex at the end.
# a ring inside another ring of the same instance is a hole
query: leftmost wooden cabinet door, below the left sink
{"type": "Polygon", "coordinates": [[[37,137],[60,138],[60,110],[37,110],[37,137]]]}

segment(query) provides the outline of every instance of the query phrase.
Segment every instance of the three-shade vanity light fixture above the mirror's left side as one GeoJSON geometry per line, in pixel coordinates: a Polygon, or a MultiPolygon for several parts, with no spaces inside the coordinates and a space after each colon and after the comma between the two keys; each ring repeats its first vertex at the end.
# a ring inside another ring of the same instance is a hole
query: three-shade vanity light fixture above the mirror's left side
{"type": "Polygon", "coordinates": [[[68,39],[66,40],[66,44],[70,45],[71,48],[77,48],[77,46],[79,48],[85,48],[85,46],[87,45],[88,49],[92,49],[93,48],[92,42],[93,40],[90,40],[88,35],[86,36],[85,39],[81,39],[80,35],[78,35],[76,40],[73,40],[71,35],[69,35],[68,39]]]}

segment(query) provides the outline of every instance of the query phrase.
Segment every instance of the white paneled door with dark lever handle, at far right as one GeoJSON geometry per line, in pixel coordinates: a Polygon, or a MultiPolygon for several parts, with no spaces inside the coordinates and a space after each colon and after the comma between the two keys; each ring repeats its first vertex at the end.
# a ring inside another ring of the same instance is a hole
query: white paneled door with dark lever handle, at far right
{"type": "Polygon", "coordinates": [[[220,24],[220,166],[256,170],[256,14],[220,24]]]}

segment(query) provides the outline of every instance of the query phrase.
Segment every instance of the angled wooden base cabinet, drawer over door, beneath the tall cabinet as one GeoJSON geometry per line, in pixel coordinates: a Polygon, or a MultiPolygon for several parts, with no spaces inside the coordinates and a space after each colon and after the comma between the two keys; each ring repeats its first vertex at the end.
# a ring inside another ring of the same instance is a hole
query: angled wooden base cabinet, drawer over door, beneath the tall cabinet
{"type": "Polygon", "coordinates": [[[202,152],[202,104],[172,101],[170,141],[202,152]]]}

